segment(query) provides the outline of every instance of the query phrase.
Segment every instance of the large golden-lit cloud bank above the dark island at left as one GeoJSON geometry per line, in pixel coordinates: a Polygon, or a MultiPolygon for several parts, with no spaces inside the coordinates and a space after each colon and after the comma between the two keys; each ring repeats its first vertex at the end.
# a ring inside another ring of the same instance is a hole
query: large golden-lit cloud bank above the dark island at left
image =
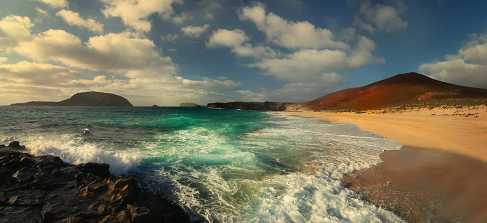
{"type": "MultiPolygon", "coordinates": [[[[55,101],[76,92],[95,90],[126,96],[135,105],[178,105],[182,101],[203,104],[211,102],[208,100],[235,99],[218,91],[233,91],[240,86],[227,79],[189,80],[178,76],[178,66],[162,55],[162,49],[145,36],[129,31],[93,36],[84,42],[63,30],[32,34],[33,24],[27,17],[5,17],[0,24],[1,32],[6,33],[1,39],[2,50],[44,62],[0,63],[0,100],[4,103],[22,102],[29,95],[29,101],[55,101]],[[69,68],[45,64],[50,62],[69,68]],[[91,79],[71,68],[107,75],[91,79]],[[5,93],[4,89],[12,90],[5,93]]],[[[0,58],[0,62],[6,60],[0,58]]]]}

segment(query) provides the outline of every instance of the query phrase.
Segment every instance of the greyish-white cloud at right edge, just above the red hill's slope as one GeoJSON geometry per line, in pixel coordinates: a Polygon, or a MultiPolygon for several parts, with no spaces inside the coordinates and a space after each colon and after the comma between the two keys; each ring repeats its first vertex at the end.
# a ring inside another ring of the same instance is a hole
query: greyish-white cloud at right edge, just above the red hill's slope
{"type": "Polygon", "coordinates": [[[447,55],[445,61],[422,64],[418,69],[441,81],[487,88],[487,34],[472,35],[458,54],[447,55]]]}

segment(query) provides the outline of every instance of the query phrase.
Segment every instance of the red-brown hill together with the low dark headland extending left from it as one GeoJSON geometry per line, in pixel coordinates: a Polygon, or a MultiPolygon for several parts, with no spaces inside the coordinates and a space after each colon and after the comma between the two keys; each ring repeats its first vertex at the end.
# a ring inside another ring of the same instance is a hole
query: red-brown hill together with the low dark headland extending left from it
{"type": "MultiPolygon", "coordinates": [[[[333,92],[308,102],[230,102],[209,103],[209,108],[228,108],[262,111],[336,110],[360,111],[394,106],[436,106],[450,100],[452,105],[487,100],[487,89],[458,86],[431,79],[419,73],[403,73],[367,86],[333,92]]],[[[475,103],[475,102],[473,102],[475,103]]],[[[446,102],[448,105],[449,102],[446,102]]]]}

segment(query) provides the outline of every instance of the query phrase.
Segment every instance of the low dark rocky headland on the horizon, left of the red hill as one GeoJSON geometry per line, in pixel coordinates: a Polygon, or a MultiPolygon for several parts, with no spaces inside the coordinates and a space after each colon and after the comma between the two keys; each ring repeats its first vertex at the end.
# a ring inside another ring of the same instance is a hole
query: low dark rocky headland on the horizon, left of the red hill
{"type": "Polygon", "coordinates": [[[229,103],[209,103],[208,108],[243,109],[257,111],[287,111],[288,107],[296,106],[298,103],[280,102],[229,102],[229,103]]]}

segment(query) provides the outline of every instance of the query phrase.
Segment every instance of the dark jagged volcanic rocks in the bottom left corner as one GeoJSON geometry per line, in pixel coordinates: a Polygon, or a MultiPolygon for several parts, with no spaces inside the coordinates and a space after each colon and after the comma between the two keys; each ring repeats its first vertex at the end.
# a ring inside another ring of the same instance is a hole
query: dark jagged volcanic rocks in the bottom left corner
{"type": "Polygon", "coordinates": [[[27,152],[16,141],[0,145],[0,222],[194,222],[136,180],[112,176],[108,164],[27,152]]]}

